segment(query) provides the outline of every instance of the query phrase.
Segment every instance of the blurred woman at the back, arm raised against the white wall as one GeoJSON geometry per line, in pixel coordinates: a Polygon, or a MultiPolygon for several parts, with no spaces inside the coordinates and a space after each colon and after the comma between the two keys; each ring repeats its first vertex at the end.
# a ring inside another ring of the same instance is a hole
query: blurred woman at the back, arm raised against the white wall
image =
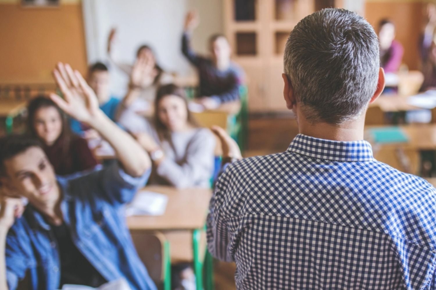
{"type": "Polygon", "coordinates": [[[163,84],[171,83],[173,77],[157,63],[152,48],[146,44],[141,45],[136,51],[135,63],[141,62],[144,64],[140,66],[141,70],[135,70],[135,64],[125,64],[116,60],[113,49],[115,36],[116,30],[112,29],[108,37],[107,51],[112,63],[130,78],[129,90],[122,102],[124,109],[128,109],[123,110],[125,115],[122,116],[122,122],[129,123],[129,117],[132,113],[140,115],[152,114],[152,104],[157,88],[163,84]]]}

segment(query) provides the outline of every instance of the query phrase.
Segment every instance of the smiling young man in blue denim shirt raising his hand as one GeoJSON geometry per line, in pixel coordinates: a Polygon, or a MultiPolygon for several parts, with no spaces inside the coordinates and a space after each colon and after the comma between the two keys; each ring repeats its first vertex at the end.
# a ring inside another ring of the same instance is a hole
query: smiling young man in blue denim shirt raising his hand
{"type": "Polygon", "coordinates": [[[54,78],[65,97],[51,99],[99,132],[119,162],[92,172],[56,177],[34,139],[0,139],[0,289],[14,290],[26,273],[32,290],[65,284],[99,287],[124,278],[133,290],[156,289],[133,246],[123,205],[150,175],[140,145],[99,109],[78,71],[58,64],[54,78]],[[18,197],[28,199],[24,213],[18,197]]]}

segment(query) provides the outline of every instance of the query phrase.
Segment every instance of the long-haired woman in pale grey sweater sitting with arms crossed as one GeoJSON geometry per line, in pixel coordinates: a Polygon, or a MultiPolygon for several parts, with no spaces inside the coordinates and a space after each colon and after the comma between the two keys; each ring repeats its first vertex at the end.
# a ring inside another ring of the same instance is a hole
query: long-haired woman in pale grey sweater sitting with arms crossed
{"type": "Polygon", "coordinates": [[[184,90],[162,86],[154,101],[153,124],[146,123],[136,140],[150,154],[150,183],[178,188],[208,187],[214,170],[215,138],[195,122],[184,90]]]}

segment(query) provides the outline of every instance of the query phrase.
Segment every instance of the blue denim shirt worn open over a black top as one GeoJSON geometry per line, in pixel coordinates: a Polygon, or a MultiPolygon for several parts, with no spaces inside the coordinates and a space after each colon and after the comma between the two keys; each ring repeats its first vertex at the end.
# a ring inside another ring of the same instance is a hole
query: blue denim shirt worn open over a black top
{"type": "MultiPolygon", "coordinates": [[[[58,177],[61,209],[73,242],[106,280],[124,277],[132,289],[156,289],[130,238],[123,204],[150,176],[150,170],[133,178],[117,163],[92,172],[58,177]]],[[[50,225],[31,205],[17,219],[7,236],[7,283],[17,287],[27,271],[31,289],[58,289],[60,263],[50,225]]]]}

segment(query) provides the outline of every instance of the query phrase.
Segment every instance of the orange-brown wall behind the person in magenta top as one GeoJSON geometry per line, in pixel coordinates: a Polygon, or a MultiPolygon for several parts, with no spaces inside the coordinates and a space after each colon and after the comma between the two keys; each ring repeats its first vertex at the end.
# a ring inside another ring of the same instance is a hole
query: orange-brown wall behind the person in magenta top
{"type": "Polygon", "coordinates": [[[430,1],[369,0],[365,3],[365,17],[375,29],[382,18],[391,19],[396,26],[396,39],[404,47],[403,63],[409,70],[419,69],[418,41],[424,22],[424,12],[430,1]]]}

